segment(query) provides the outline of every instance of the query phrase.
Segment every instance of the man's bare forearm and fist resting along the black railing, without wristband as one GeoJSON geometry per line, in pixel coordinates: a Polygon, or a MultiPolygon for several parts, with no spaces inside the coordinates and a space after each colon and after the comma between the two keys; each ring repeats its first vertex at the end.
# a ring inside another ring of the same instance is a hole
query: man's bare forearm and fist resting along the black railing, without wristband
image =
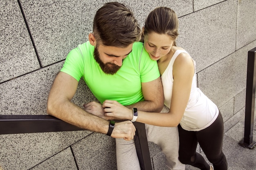
{"type": "MultiPolygon", "coordinates": [[[[101,117],[87,113],[85,110],[76,106],[72,102],[66,101],[59,105],[61,107],[52,108],[49,104],[47,107],[47,113],[58,117],[59,119],[73,124],[80,128],[91,130],[93,132],[99,132],[107,134],[109,130],[109,121],[102,119],[101,117]]],[[[124,138],[125,140],[133,139],[135,135],[135,126],[131,121],[123,121],[115,124],[111,137],[124,138]]]]}

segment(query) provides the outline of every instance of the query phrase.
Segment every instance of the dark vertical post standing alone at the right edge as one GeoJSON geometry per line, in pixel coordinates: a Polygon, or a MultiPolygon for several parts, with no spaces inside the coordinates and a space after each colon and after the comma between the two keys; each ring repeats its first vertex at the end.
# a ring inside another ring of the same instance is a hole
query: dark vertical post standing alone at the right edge
{"type": "Polygon", "coordinates": [[[240,141],[240,145],[250,149],[254,148],[256,145],[256,142],[252,140],[253,128],[254,128],[255,87],[256,87],[256,48],[248,51],[246,99],[245,99],[245,132],[244,132],[244,139],[240,141]]]}

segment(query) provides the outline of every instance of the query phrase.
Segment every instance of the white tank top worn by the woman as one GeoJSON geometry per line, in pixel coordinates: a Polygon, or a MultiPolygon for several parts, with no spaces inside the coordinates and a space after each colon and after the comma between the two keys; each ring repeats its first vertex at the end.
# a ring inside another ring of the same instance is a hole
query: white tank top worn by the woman
{"type": "MultiPolygon", "coordinates": [[[[173,90],[173,63],[180,53],[187,53],[185,50],[177,50],[173,54],[166,70],[161,76],[164,88],[164,104],[170,108],[173,90]]],[[[193,59],[192,59],[193,60],[193,59]]],[[[195,61],[194,69],[195,69],[195,61]]],[[[219,110],[206,95],[196,87],[195,74],[193,76],[189,102],[184,115],[180,121],[180,126],[185,130],[199,131],[210,126],[218,117],[219,110]]]]}

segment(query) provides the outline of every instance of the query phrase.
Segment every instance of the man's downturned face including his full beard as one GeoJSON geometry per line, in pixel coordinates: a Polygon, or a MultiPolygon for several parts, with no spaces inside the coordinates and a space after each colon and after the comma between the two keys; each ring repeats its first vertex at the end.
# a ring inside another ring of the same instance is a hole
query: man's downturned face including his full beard
{"type": "Polygon", "coordinates": [[[115,74],[121,68],[123,60],[132,51],[132,44],[125,48],[96,45],[94,59],[106,74],[115,74]]]}

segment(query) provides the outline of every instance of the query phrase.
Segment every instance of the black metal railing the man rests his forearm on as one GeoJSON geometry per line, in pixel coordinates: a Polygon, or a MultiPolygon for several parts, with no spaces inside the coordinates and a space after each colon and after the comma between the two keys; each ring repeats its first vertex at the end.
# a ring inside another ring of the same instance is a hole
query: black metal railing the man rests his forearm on
{"type": "MultiPolygon", "coordinates": [[[[136,127],[135,147],[141,170],[152,170],[145,124],[136,127]]],[[[0,135],[84,130],[50,115],[0,115],[0,135]]]]}

